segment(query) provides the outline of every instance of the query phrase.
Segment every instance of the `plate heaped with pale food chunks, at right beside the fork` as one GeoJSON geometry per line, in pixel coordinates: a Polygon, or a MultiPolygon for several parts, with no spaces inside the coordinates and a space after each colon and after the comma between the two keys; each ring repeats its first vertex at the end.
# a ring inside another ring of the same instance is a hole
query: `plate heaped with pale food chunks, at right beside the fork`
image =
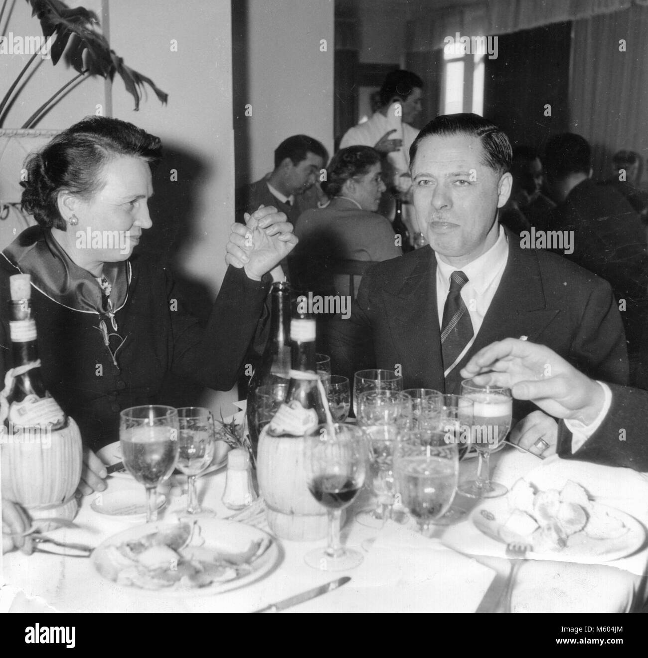
{"type": "Polygon", "coordinates": [[[518,480],[504,497],[473,510],[473,524],[505,545],[522,542],[532,547],[530,559],[600,564],[632,555],[646,532],[634,517],[590,499],[588,492],[568,480],[561,490],[539,490],[518,480]]]}

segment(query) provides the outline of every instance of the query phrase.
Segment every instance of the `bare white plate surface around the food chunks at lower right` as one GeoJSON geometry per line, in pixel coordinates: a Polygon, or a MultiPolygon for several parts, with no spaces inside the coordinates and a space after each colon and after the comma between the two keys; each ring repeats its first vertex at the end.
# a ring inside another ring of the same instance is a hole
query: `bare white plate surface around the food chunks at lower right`
{"type": "MultiPolygon", "coordinates": [[[[567,546],[557,551],[535,553],[530,551],[526,557],[535,560],[551,560],[556,562],[576,562],[581,564],[603,564],[626,555],[632,555],[643,545],[646,531],[643,525],[634,517],[615,507],[591,502],[592,507],[620,520],[628,532],[616,538],[594,539],[583,530],[576,532],[568,539],[567,546]]],[[[528,538],[514,536],[503,528],[511,515],[511,507],[507,497],[488,500],[476,507],[471,513],[473,524],[486,536],[498,542],[499,554],[494,557],[506,557],[506,545],[515,540],[527,541],[528,538]]],[[[587,526],[585,530],[587,529],[587,526]]]]}

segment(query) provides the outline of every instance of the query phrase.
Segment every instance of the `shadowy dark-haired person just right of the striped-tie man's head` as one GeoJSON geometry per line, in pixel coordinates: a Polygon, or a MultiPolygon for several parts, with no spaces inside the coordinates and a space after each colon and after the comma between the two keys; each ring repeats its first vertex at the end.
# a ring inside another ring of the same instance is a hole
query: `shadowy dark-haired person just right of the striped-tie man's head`
{"type": "Polygon", "coordinates": [[[513,149],[513,190],[503,207],[499,222],[519,235],[531,230],[532,226],[544,229],[547,213],[555,203],[542,193],[542,163],[536,149],[516,146],[513,149]]]}

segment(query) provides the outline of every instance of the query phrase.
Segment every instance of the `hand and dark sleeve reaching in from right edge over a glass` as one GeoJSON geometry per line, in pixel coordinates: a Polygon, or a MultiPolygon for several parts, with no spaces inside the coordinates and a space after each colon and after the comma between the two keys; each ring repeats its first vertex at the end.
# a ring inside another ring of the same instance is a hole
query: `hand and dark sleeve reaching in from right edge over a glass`
{"type": "MultiPolygon", "coordinates": [[[[549,347],[507,338],[476,353],[461,370],[478,384],[505,386],[556,418],[557,443],[549,436],[519,437],[519,445],[547,457],[648,471],[648,391],[595,382],[549,347]]],[[[511,435],[515,441],[515,430],[511,435]]]]}

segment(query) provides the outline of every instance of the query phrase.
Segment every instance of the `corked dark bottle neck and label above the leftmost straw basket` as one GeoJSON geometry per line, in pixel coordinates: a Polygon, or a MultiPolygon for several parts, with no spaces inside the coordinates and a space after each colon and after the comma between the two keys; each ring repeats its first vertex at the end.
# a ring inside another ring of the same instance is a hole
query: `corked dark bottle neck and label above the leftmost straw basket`
{"type": "Polygon", "coordinates": [[[59,430],[66,424],[66,415],[47,392],[41,374],[36,343],[36,322],[32,318],[30,275],[16,274],[9,278],[11,290],[9,332],[13,365],[5,378],[2,395],[7,403],[7,425],[16,428],[51,426],[59,430]]]}

